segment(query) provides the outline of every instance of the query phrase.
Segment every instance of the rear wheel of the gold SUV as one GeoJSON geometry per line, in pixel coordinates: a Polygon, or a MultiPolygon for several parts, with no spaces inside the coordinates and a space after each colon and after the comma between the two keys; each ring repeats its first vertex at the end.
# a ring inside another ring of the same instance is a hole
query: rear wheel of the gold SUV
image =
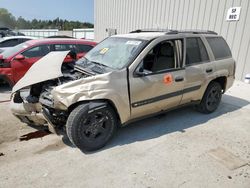
{"type": "Polygon", "coordinates": [[[197,110],[205,114],[214,112],[220,104],[221,96],[221,85],[218,82],[211,82],[208,85],[200,104],[196,106],[197,110]]]}

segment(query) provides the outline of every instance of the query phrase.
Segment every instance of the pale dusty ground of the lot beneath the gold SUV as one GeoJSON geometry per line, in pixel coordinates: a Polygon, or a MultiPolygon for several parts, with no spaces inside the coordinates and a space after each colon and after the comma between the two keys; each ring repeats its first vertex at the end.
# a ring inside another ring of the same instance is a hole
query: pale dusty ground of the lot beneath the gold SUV
{"type": "Polygon", "coordinates": [[[94,153],[52,134],[19,141],[35,129],[8,102],[0,114],[0,187],[250,187],[250,85],[241,82],[213,114],[187,107],[139,121],[94,153]]]}

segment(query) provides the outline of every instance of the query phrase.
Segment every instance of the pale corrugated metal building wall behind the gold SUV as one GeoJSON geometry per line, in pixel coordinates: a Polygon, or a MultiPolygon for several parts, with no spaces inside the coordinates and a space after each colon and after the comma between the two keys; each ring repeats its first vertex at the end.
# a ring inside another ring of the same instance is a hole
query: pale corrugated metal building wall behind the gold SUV
{"type": "Polygon", "coordinates": [[[94,4],[96,41],[140,28],[213,30],[232,49],[236,78],[250,73],[250,0],[95,0],[94,4]]]}

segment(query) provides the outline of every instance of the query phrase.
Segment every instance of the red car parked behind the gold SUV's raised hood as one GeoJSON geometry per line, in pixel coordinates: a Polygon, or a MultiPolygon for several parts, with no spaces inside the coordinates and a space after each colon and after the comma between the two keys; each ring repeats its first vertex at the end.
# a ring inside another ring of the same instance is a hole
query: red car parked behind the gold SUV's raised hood
{"type": "MultiPolygon", "coordinates": [[[[82,39],[37,39],[29,40],[0,54],[0,82],[13,86],[37,60],[51,51],[71,50],[76,58],[83,57],[96,45],[95,42],[82,39]]],[[[65,62],[72,59],[65,59],[65,62]]],[[[49,67],[48,67],[49,68],[49,67]]]]}

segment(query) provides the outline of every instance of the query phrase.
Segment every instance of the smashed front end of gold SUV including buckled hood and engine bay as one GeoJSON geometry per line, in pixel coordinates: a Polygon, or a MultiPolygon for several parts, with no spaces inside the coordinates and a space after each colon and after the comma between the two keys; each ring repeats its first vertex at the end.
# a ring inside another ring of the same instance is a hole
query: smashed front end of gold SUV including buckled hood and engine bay
{"type": "Polygon", "coordinates": [[[49,53],[37,61],[14,86],[11,111],[22,122],[32,127],[47,126],[57,133],[66,124],[69,112],[66,106],[56,107],[52,90],[65,83],[106,72],[101,67],[94,66],[92,69],[93,65],[81,60],[84,66],[75,65],[73,61],[63,63],[68,53],[49,53]]]}

